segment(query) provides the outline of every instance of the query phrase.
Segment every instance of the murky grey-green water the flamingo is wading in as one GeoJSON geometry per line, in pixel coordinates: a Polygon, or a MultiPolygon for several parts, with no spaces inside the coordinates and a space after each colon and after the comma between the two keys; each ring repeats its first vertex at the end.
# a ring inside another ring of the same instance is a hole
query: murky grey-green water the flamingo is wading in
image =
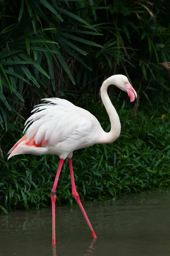
{"type": "MultiPolygon", "coordinates": [[[[83,205],[98,238],[92,240],[78,207],[57,207],[57,256],[170,255],[169,192],[83,205]]],[[[55,256],[51,209],[0,216],[0,256],[55,256]]]]}

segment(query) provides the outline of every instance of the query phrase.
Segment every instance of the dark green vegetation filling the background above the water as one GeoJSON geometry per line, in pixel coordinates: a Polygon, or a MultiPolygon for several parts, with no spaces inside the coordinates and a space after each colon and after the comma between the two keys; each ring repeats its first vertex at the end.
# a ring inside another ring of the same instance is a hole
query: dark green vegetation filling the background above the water
{"type": "MultiPolygon", "coordinates": [[[[106,200],[170,185],[170,1],[0,0],[0,209],[50,204],[54,156],[7,152],[24,119],[45,97],[61,97],[110,123],[102,81],[122,73],[138,93],[135,111],[117,88],[109,95],[122,132],[115,143],[76,151],[83,199],[106,200]]],[[[66,161],[58,202],[72,202],[66,161]]]]}

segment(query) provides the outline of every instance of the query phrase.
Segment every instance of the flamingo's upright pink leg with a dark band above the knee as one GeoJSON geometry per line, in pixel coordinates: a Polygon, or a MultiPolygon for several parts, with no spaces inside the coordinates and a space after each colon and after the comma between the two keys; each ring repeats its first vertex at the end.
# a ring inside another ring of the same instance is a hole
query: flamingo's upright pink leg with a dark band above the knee
{"type": "Polygon", "coordinates": [[[56,188],[57,188],[57,183],[59,180],[59,175],[62,169],[62,165],[64,163],[63,159],[59,160],[59,166],[57,170],[57,174],[54,180],[54,185],[53,188],[51,189],[51,204],[52,204],[52,244],[56,244],[56,232],[55,232],[55,204],[56,204],[56,188]]]}

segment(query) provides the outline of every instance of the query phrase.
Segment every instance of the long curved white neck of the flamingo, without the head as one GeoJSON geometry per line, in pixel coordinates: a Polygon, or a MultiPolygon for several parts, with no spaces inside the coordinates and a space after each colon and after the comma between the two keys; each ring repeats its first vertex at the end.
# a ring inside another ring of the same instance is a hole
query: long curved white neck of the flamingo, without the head
{"type": "Polygon", "coordinates": [[[103,131],[101,138],[102,143],[112,143],[119,137],[121,131],[119,116],[116,112],[116,109],[113,107],[107,92],[108,87],[111,84],[114,84],[113,79],[111,82],[111,79],[108,78],[103,82],[102,87],[100,89],[103,105],[105,106],[106,111],[108,112],[109,119],[111,121],[111,131],[108,133],[103,131]]]}

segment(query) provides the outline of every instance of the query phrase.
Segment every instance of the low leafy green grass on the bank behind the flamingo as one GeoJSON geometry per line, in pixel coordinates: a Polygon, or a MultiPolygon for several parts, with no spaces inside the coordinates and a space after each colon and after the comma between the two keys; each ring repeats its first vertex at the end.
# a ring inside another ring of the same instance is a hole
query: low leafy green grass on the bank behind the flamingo
{"type": "MultiPolygon", "coordinates": [[[[150,107],[149,113],[149,105],[144,102],[136,116],[125,102],[114,104],[122,124],[119,139],[112,144],[94,145],[74,152],[75,182],[82,200],[114,199],[169,186],[168,101],[168,95],[159,99],[159,104],[150,107]],[[164,119],[161,118],[163,114],[167,115],[164,119]]],[[[96,115],[105,131],[109,131],[109,119],[100,101],[91,101],[91,105],[85,108],[96,115]]],[[[50,204],[50,190],[59,163],[58,157],[51,155],[19,155],[7,161],[7,151],[19,138],[20,131],[13,133],[8,130],[2,141],[4,158],[0,163],[0,208],[4,213],[11,209],[39,209],[50,204]],[[15,134],[15,139],[11,134],[15,134]]],[[[72,205],[72,200],[66,160],[57,186],[57,203],[70,201],[72,205]]]]}

